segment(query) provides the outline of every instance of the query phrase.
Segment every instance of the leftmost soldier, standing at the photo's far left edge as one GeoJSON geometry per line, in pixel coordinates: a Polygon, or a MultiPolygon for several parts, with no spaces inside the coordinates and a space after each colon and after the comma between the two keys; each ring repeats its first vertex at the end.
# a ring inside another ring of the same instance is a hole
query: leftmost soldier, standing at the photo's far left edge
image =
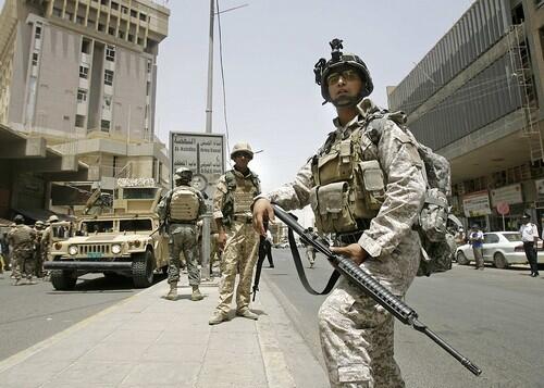
{"type": "Polygon", "coordinates": [[[25,218],[21,214],[13,218],[15,227],[8,234],[8,240],[13,249],[12,262],[16,263],[18,271],[15,273],[14,286],[18,285],[21,277],[25,276],[28,284],[33,281],[36,262],[34,260],[34,243],[36,241],[36,231],[24,224],[25,218]]]}

